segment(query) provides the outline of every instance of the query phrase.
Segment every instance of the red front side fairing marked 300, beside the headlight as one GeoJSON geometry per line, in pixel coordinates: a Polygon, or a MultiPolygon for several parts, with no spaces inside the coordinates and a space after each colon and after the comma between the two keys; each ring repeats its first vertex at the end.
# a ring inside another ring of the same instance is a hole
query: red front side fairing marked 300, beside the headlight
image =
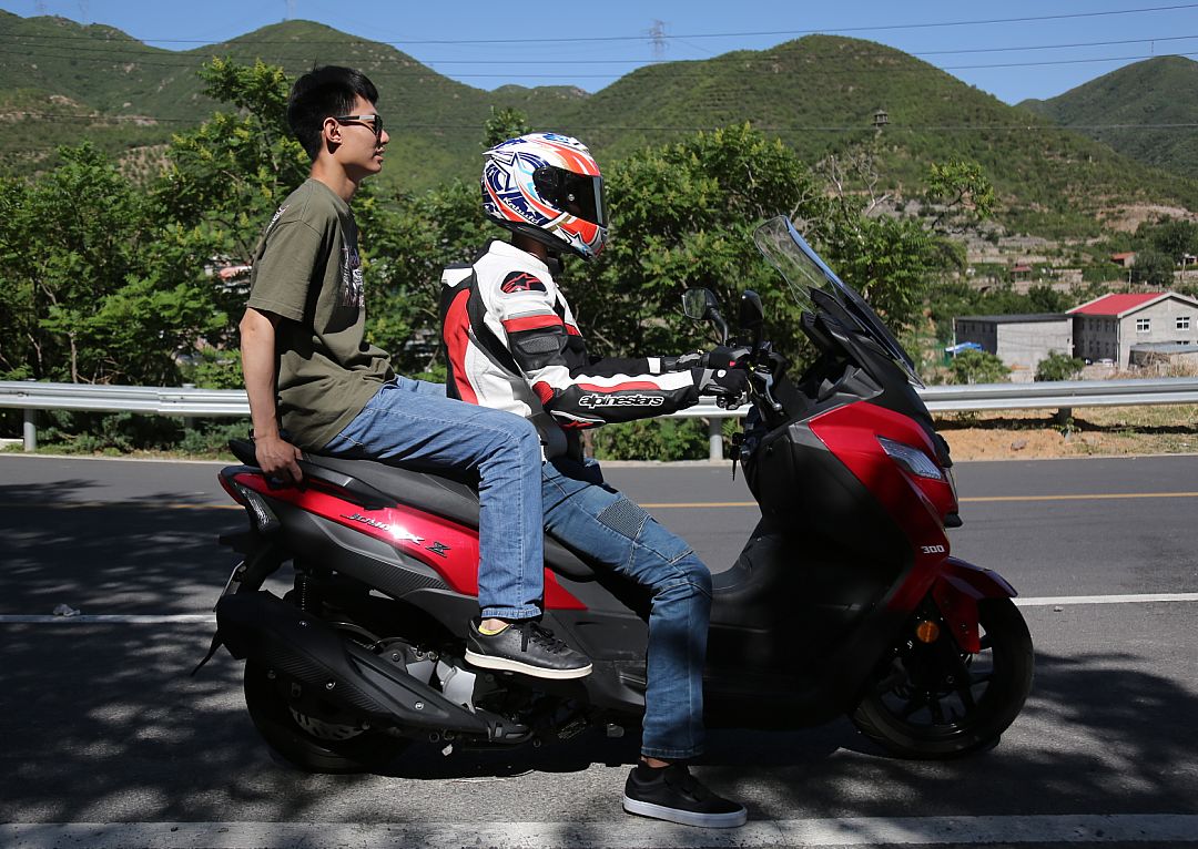
{"type": "Polygon", "coordinates": [[[867,401],[821,413],[811,420],[811,431],[873,493],[910,540],[915,565],[889,606],[914,610],[949,554],[944,516],[956,513],[957,503],[948,480],[910,474],[887,455],[878,437],[918,448],[934,461],[932,441],[907,416],[867,401]]]}

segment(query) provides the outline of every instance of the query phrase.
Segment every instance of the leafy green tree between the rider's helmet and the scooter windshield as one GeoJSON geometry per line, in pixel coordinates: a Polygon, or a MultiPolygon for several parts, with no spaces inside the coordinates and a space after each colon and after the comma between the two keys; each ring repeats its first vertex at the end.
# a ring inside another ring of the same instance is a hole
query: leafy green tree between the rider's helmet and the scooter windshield
{"type": "MultiPolygon", "coordinates": [[[[767,334],[798,345],[798,308],[754,247],[752,230],[778,214],[827,220],[811,171],[780,141],[748,126],[698,133],[605,166],[611,212],[606,250],[570,261],[565,285],[601,353],[672,353],[709,344],[684,319],[688,287],[713,290],[734,315],[740,292],[761,295],[767,334]]],[[[810,232],[818,231],[818,224],[810,232]]]]}

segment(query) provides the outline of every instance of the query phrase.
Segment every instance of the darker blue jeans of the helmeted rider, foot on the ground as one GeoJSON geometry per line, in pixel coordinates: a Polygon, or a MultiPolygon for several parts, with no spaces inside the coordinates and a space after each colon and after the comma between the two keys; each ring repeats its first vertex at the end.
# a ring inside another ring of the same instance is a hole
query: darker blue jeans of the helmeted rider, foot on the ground
{"type": "Polygon", "coordinates": [[[543,478],[545,529],[652,594],[641,753],[664,760],[700,754],[710,571],[685,541],[604,484],[593,460],[550,460],[543,478]]]}

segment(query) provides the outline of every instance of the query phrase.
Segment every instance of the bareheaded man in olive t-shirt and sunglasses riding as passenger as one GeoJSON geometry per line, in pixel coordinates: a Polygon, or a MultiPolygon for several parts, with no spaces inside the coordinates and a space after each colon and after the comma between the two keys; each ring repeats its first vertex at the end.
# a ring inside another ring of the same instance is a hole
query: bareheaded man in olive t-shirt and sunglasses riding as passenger
{"type": "Polygon", "coordinates": [[[311,157],[311,172],[262,235],[241,321],[258,463],[267,474],[300,480],[298,444],[477,472],[482,617],[470,627],[492,638],[472,662],[580,678],[591,662],[536,623],[544,588],[536,429],[512,413],[450,400],[443,386],[394,375],[387,354],[365,342],[350,200],[382,169],[389,137],[377,99],[365,75],[332,66],[296,80],[288,99],[288,122],[311,157]],[[282,437],[280,420],[297,444],[282,437]]]}

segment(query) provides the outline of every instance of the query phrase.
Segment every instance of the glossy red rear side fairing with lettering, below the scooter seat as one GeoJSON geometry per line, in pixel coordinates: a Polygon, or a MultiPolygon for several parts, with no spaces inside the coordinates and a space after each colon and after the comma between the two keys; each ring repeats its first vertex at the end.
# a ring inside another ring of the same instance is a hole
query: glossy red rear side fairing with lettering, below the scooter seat
{"type": "MultiPolygon", "coordinates": [[[[368,510],[311,485],[272,489],[252,473],[238,474],[236,480],[268,498],[382,540],[431,566],[455,593],[478,595],[478,533],[472,528],[401,504],[368,510]]],[[[581,611],[586,605],[546,569],[545,610],[581,611]]]]}

